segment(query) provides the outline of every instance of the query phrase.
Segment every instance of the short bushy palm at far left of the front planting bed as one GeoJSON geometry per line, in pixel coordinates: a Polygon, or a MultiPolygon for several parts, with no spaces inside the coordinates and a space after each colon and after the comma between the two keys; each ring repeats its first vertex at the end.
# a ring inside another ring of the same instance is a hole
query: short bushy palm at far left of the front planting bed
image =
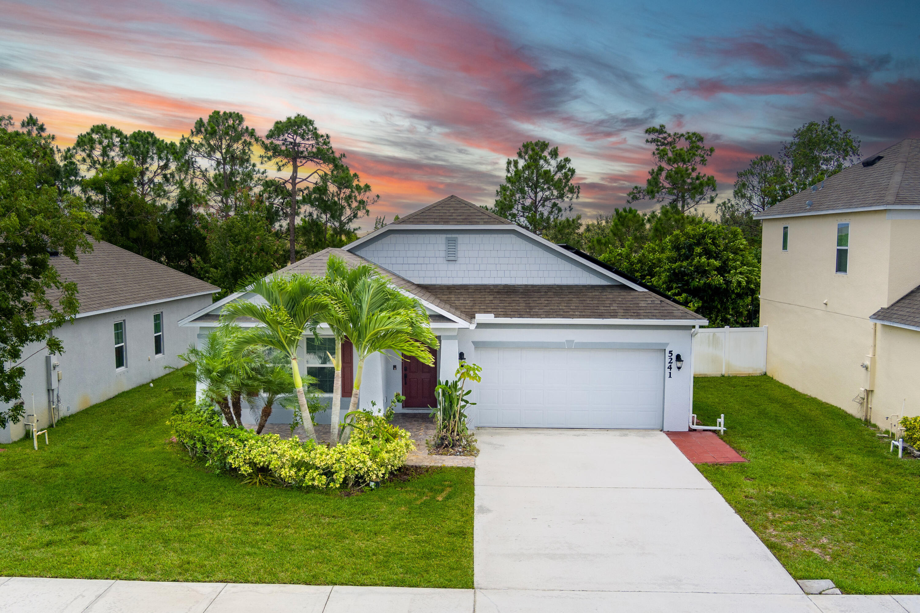
{"type": "Polygon", "coordinates": [[[190,376],[204,386],[204,397],[217,405],[224,413],[224,420],[233,428],[243,427],[242,422],[236,419],[231,399],[247,386],[247,363],[251,359],[248,353],[237,356],[227,353],[228,344],[239,332],[238,326],[212,330],[201,348],[191,345],[186,353],[178,355],[187,364],[194,365],[190,376]]]}

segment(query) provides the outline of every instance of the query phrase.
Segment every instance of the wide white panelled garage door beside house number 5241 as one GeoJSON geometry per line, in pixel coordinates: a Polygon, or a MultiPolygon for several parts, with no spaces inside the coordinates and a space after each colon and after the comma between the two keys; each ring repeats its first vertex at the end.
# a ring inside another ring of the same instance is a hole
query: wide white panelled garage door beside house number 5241
{"type": "Polygon", "coordinates": [[[485,349],[478,426],[661,429],[658,349],[485,349]]]}

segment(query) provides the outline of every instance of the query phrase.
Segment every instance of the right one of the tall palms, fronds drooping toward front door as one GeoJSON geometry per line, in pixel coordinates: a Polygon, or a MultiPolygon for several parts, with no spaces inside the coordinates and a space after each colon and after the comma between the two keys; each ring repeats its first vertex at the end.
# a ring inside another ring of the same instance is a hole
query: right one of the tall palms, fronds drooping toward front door
{"type": "MultiPolygon", "coordinates": [[[[438,339],[431,332],[428,313],[417,299],[400,293],[384,278],[376,275],[363,278],[348,295],[333,302],[326,320],[351,340],[358,354],[349,412],[358,410],[364,360],[368,355],[389,351],[399,356],[411,355],[423,364],[434,363],[429,347],[437,348],[438,339]]],[[[341,438],[347,440],[348,433],[341,434],[341,438]]]]}

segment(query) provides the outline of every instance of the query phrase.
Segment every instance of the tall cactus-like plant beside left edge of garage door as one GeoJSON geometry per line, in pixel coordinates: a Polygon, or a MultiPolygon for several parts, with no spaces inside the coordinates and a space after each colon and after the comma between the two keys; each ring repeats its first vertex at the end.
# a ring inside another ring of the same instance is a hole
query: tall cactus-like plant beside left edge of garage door
{"type": "Polygon", "coordinates": [[[476,437],[467,426],[468,416],[466,409],[476,402],[471,402],[467,397],[473,392],[466,389],[467,381],[482,381],[482,367],[477,364],[461,362],[453,381],[438,381],[434,388],[434,397],[438,406],[431,410],[437,428],[434,440],[429,442],[432,450],[442,450],[448,453],[465,453],[475,451],[476,437]]]}

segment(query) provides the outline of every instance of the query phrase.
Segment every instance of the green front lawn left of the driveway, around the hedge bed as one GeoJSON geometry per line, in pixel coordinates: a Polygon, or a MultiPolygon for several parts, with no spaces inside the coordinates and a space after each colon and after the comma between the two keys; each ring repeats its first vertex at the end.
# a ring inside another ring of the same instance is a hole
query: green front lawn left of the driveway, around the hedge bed
{"type": "Polygon", "coordinates": [[[181,374],[0,453],[0,576],[473,587],[473,469],[373,492],[242,485],[167,444],[181,374]]]}

